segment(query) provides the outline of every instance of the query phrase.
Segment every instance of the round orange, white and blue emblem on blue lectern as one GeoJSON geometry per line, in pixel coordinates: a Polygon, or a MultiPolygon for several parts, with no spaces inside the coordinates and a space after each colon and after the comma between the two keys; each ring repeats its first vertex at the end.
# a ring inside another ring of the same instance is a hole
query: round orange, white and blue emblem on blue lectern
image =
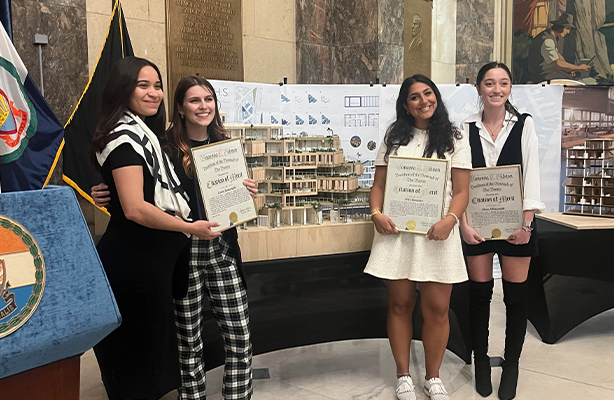
{"type": "Polygon", "coordinates": [[[23,226],[0,215],[0,339],[32,316],[45,287],[45,262],[23,226]]]}

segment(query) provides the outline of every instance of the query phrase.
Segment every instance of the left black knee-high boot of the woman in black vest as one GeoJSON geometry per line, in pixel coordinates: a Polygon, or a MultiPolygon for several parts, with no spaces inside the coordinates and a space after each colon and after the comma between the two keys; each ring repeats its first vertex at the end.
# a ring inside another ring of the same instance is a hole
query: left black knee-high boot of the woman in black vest
{"type": "Polygon", "coordinates": [[[494,281],[469,281],[469,322],[471,325],[471,348],[475,363],[475,389],[482,397],[492,393],[490,380],[490,357],[488,357],[488,322],[494,281]]]}

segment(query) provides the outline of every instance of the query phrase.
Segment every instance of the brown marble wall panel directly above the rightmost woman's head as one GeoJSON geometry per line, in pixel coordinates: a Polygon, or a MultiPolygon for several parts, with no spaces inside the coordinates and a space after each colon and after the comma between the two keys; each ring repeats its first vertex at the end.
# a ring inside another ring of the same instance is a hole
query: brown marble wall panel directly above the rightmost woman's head
{"type": "Polygon", "coordinates": [[[493,60],[494,12],[492,0],[457,0],[456,81],[475,83],[480,67],[493,60]]]}

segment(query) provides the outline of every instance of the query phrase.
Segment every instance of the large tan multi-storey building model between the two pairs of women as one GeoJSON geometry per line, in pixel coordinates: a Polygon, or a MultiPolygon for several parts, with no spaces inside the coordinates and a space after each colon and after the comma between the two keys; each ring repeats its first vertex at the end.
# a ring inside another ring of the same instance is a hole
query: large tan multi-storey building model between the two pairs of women
{"type": "MultiPolygon", "coordinates": [[[[322,206],[330,208],[333,220],[339,216],[335,205],[346,207],[346,218],[349,204],[367,205],[368,190],[358,186],[363,166],[344,160],[338,136],[283,136],[281,125],[225,128],[243,142],[248,170],[260,191],[256,208],[268,215],[271,226],[316,223],[322,206]]],[[[262,219],[263,224],[269,223],[262,219]]]]}

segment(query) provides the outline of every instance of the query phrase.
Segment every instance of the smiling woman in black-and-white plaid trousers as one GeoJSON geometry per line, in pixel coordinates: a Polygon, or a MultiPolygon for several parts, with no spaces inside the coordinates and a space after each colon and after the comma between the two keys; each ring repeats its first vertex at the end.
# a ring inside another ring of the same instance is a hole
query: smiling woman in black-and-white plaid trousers
{"type": "MultiPolygon", "coordinates": [[[[205,220],[190,149],[228,139],[211,83],[200,76],[182,78],[175,89],[172,113],[171,126],[166,134],[170,160],[189,198],[191,217],[196,221],[205,220]]],[[[252,196],[257,195],[256,181],[246,179],[243,184],[252,196]]],[[[92,197],[96,205],[106,206],[106,185],[94,186],[92,197]]],[[[215,233],[206,239],[210,240],[192,237],[188,245],[187,295],[175,297],[182,378],[179,398],[204,399],[206,396],[201,335],[203,307],[208,300],[224,339],[224,399],[248,400],[252,395],[252,347],[237,230],[229,229],[221,235],[215,233]]]]}

